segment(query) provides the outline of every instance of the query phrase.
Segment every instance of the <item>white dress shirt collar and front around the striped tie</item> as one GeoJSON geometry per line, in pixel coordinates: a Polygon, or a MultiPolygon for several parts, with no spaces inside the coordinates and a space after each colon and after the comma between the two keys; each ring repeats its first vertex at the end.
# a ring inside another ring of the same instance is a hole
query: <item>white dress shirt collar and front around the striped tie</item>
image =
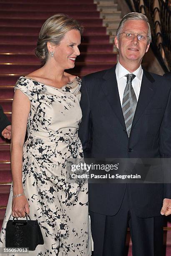
{"type": "Polygon", "coordinates": [[[136,99],[137,99],[137,102],[138,102],[138,97],[139,97],[139,94],[140,94],[141,82],[142,82],[142,77],[143,77],[143,69],[140,65],[140,67],[138,67],[138,69],[136,69],[136,71],[134,71],[133,73],[130,73],[127,69],[125,69],[119,63],[119,61],[116,64],[116,80],[117,80],[117,83],[118,83],[118,91],[119,91],[121,106],[122,106],[122,100],[123,100],[123,92],[125,90],[126,82],[127,82],[127,78],[125,77],[126,74],[136,75],[136,77],[132,80],[132,87],[133,87],[133,90],[136,94],[136,99]]]}

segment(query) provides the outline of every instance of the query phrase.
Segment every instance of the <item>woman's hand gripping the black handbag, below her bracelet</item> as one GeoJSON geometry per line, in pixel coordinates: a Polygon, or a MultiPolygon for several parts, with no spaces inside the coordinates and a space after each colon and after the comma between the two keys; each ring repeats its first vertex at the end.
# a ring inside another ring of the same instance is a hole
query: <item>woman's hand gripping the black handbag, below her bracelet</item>
{"type": "Polygon", "coordinates": [[[25,212],[29,214],[29,205],[25,195],[13,198],[12,201],[12,215],[15,218],[25,217],[25,212]]]}

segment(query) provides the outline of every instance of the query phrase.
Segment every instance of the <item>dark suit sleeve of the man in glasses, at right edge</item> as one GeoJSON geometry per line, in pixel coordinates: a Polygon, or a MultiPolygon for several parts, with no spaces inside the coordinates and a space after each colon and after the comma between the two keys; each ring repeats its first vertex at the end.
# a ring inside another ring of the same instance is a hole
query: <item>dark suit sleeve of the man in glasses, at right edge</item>
{"type": "Polygon", "coordinates": [[[160,128],[160,142],[159,142],[159,150],[160,155],[163,158],[166,158],[164,161],[164,172],[165,172],[165,179],[166,179],[166,198],[171,198],[171,184],[168,183],[171,181],[171,169],[170,169],[170,161],[167,161],[168,158],[171,159],[171,90],[168,96],[168,102],[166,105],[166,109],[164,112],[163,120],[161,123],[160,128]]]}

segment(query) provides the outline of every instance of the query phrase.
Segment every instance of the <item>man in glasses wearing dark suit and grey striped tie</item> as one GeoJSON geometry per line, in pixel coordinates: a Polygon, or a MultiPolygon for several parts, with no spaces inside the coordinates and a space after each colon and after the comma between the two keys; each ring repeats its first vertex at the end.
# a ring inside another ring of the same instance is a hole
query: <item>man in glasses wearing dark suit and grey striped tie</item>
{"type": "MultiPolygon", "coordinates": [[[[83,77],[85,158],[171,157],[171,85],[141,67],[150,42],[147,17],[128,13],[115,38],[117,65],[83,77]]],[[[168,184],[89,184],[94,256],[123,256],[128,226],[133,256],[161,256],[169,198],[168,184]]]]}

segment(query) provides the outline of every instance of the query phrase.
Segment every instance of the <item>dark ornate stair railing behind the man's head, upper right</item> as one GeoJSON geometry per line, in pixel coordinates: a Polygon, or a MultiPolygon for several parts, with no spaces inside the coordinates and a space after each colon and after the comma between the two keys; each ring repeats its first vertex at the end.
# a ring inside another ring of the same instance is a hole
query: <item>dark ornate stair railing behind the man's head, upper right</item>
{"type": "Polygon", "coordinates": [[[171,10],[169,0],[126,0],[132,12],[143,13],[151,25],[151,48],[164,72],[171,70],[171,10]]]}

